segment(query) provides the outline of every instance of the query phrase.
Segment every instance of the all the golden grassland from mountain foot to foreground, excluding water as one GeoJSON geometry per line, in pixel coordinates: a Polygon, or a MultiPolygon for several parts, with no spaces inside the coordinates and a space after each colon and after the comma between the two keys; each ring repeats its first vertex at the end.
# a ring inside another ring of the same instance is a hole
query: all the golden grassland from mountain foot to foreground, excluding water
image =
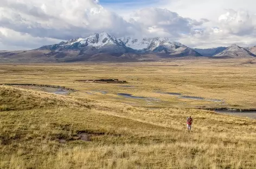
{"type": "Polygon", "coordinates": [[[193,108],[255,108],[256,65],[247,63],[3,64],[1,83],[78,91],[61,96],[0,86],[0,168],[256,168],[255,120],[193,108]],[[134,87],[75,81],[101,78],[127,80],[134,87]],[[225,100],[227,105],[156,90],[225,100]],[[117,93],[163,101],[149,105],[117,93]],[[188,115],[194,118],[191,133],[185,129],[188,115]],[[91,141],[82,141],[79,133],[91,135],[91,141]]]}

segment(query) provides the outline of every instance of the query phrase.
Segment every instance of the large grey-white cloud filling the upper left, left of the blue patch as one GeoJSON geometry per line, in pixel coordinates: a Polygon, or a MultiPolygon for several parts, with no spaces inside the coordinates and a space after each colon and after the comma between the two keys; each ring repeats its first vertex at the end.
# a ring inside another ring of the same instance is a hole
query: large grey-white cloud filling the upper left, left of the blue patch
{"type": "Polygon", "coordinates": [[[99,31],[131,33],[130,23],[93,0],[1,1],[1,27],[36,37],[68,40],[99,31]]]}

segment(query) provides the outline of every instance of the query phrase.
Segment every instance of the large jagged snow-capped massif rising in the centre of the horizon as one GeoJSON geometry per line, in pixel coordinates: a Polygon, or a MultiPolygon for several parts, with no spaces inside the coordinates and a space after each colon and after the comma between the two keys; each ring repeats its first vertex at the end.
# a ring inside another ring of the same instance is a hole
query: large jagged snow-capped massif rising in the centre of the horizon
{"type": "Polygon", "coordinates": [[[99,53],[162,53],[178,56],[201,56],[195,50],[178,42],[172,42],[170,38],[143,38],[141,40],[132,37],[116,38],[102,32],[86,38],[74,38],[67,42],[43,46],[40,50],[72,51],[79,50],[80,54],[99,53]]]}

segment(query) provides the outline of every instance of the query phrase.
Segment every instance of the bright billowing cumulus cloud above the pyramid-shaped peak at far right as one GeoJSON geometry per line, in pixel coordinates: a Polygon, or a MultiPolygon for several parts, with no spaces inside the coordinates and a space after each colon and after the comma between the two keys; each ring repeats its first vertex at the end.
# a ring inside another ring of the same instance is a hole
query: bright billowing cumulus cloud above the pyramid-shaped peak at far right
{"type": "Polygon", "coordinates": [[[253,46],[256,44],[256,17],[247,11],[226,10],[219,16],[218,22],[203,25],[203,29],[196,29],[192,34],[183,36],[181,43],[190,47],[208,48],[219,46],[253,46]],[[212,25],[215,25],[213,27],[212,25]]]}

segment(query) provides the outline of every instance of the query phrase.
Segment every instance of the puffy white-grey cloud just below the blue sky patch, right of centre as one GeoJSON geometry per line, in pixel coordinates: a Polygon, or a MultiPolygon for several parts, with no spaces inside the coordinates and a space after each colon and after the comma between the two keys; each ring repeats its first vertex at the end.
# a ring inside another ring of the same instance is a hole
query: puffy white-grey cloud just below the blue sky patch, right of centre
{"type": "Polygon", "coordinates": [[[145,8],[131,15],[131,22],[139,25],[146,36],[168,36],[178,38],[189,34],[193,25],[202,24],[190,18],[183,18],[167,9],[145,8]]]}

